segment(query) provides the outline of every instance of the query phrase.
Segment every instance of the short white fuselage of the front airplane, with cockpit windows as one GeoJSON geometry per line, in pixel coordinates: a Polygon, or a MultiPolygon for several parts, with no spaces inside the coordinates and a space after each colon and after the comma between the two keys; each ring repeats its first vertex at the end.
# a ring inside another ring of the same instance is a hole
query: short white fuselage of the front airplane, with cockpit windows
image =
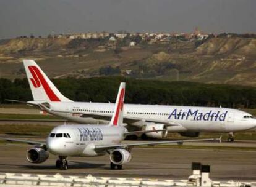
{"type": "Polygon", "coordinates": [[[124,127],[109,125],[61,125],[51,131],[46,146],[58,156],[101,156],[106,151],[96,152],[95,145],[119,144],[125,132],[124,127]]]}

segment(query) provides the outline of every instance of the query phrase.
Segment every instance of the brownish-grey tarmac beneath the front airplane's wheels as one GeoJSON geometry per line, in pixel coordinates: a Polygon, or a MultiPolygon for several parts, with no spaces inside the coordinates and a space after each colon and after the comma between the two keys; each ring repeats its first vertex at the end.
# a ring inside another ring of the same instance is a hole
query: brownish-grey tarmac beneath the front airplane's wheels
{"type": "Polygon", "coordinates": [[[56,156],[50,155],[42,164],[25,159],[32,146],[14,143],[0,144],[0,172],[42,173],[62,175],[92,175],[109,177],[186,179],[192,162],[211,165],[213,180],[255,180],[256,151],[228,149],[134,148],[133,159],[123,170],[109,169],[109,156],[69,157],[69,170],[55,169],[56,156]]]}

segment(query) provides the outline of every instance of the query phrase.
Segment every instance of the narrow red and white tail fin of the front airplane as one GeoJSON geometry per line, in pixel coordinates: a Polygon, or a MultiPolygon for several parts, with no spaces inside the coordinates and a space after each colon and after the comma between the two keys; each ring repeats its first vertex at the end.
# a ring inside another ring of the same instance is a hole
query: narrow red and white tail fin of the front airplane
{"type": "Polygon", "coordinates": [[[114,113],[109,125],[119,126],[122,125],[124,116],[124,94],[126,90],[126,83],[121,82],[119,91],[116,98],[116,104],[114,105],[114,113]]]}

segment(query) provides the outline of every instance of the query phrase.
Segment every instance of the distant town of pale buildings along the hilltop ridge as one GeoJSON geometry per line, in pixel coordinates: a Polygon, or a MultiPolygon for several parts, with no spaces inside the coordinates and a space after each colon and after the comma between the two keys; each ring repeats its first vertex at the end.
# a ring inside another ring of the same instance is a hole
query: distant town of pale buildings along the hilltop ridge
{"type": "MultiPolygon", "coordinates": [[[[49,34],[46,37],[38,36],[37,38],[63,38],[63,39],[108,39],[114,45],[117,41],[125,41],[129,39],[129,44],[125,46],[136,46],[139,42],[147,42],[147,44],[164,44],[172,40],[179,41],[203,41],[214,37],[232,37],[240,36],[244,38],[256,38],[256,34],[236,34],[236,33],[205,33],[197,28],[192,33],[128,33],[127,31],[119,31],[117,33],[89,32],[89,33],[69,33],[69,34],[49,34]]],[[[33,34],[30,36],[19,36],[17,38],[36,38],[33,34]]],[[[111,46],[111,45],[110,45],[111,46]]]]}

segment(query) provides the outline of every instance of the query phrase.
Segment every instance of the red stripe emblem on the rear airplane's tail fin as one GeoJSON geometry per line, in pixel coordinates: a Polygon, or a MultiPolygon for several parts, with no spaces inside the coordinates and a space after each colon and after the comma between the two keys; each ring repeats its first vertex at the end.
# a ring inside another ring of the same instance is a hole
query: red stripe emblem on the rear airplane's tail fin
{"type": "Polygon", "coordinates": [[[40,70],[36,66],[28,66],[28,70],[32,74],[33,78],[30,78],[30,81],[32,82],[33,86],[35,88],[43,86],[43,89],[45,90],[46,94],[48,95],[49,99],[51,101],[61,101],[56,94],[54,94],[51,87],[49,87],[48,82],[43,77],[43,74],[41,74],[40,70]]]}

